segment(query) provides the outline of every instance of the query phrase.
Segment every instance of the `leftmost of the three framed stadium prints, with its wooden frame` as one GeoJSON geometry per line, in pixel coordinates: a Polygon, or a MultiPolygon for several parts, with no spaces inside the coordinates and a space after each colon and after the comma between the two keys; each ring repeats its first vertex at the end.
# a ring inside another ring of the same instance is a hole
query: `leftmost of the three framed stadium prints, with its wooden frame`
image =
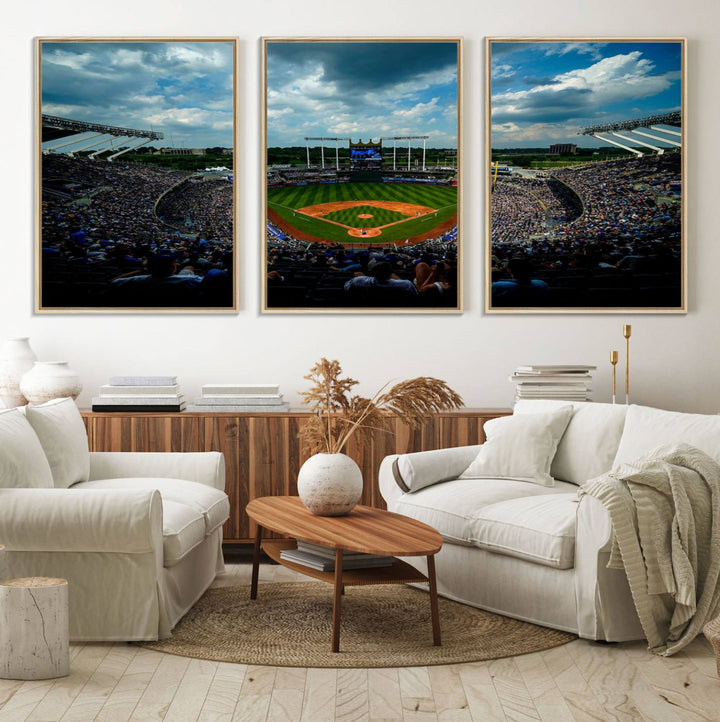
{"type": "Polygon", "coordinates": [[[36,44],[36,310],[236,311],[236,40],[36,44]]]}

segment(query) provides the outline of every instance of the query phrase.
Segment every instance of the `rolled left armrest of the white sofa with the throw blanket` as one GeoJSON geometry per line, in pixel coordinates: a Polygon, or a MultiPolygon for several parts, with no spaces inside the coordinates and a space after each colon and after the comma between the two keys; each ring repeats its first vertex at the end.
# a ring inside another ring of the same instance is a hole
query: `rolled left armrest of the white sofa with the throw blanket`
{"type": "Polygon", "coordinates": [[[387,456],[380,465],[380,492],[389,507],[403,492],[456,479],[479,451],[474,445],[387,456]]]}

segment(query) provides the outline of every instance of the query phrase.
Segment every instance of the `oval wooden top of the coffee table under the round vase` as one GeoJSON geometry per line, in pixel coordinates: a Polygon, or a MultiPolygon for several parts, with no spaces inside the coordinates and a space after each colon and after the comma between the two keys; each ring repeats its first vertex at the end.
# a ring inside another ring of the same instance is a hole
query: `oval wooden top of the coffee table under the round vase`
{"type": "Polygon", "coordinates": [[[442,547],[440,533],[423,522],[369,506],[345,516],[315,516],[299,496],[263,496],[245,508],[260,526],[335,549],[386,556],[427,556],[442,547]]]}

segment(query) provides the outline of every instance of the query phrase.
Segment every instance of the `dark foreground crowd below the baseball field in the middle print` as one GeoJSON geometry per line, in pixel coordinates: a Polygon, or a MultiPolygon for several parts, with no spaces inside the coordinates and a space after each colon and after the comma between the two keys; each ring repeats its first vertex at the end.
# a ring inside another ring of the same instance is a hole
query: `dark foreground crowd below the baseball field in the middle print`
{"type": "Polygon", "coordinates": [[[457,226],[405,246],[346,248],[267,229],[267,304],[277,307],[455,307],[457,226]]]}

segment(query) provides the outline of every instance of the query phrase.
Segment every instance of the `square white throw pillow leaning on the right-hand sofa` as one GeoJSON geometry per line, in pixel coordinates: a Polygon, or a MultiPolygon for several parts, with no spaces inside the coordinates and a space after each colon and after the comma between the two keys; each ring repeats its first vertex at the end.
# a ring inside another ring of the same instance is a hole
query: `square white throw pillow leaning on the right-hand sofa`
{"type": "Polygon", "coordinates": [[[515,479],[553,486],[550,466],[572,412],[572,406],[562,406],[547,414],[518,414],[487,421],[487,441],[460,478],[515,479]]]}

